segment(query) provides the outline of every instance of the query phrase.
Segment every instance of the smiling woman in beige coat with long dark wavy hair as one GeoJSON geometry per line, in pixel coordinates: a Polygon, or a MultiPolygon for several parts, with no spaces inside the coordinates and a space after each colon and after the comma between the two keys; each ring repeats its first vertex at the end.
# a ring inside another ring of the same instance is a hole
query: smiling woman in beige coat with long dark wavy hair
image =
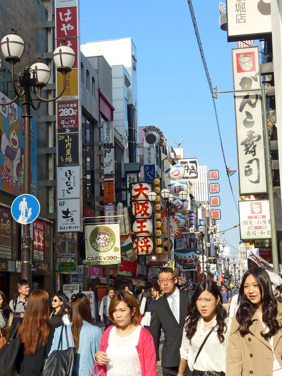
{"type": "Polygon", "coordinates": [[[282,305],[268,273],[249,269],[240,287],[240,306],[227,344],[226,376],[282,375],[282,305]]]}

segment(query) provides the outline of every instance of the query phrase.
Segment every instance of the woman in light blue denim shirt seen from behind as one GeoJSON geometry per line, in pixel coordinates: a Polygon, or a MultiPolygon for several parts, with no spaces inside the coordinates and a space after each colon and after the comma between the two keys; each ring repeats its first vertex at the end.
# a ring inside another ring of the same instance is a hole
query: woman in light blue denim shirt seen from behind
{"type": "MultiPolygon", "coordinates": [[[[70,346],[76,348],[77,353],[74,376],[88,376],[94,365],[94,355],[99,351],[102,332],[94,324],[90,302],[85,294],[79,293],[71,296],[70,320],[71,323],[67,326],[68,342],[70,346]]],[[[58,349],[62,329],[56,330],[49,355],[58,349]]],[[[64,334],[61,350],[67,348],[67,339],[64,334]]]]}

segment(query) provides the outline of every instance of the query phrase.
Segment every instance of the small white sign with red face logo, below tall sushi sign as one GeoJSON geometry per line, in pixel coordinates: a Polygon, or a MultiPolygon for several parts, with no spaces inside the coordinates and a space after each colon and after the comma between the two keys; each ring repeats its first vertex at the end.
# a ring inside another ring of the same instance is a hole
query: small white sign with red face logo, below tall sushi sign
{"type": "Polygon", "coordinates": [[[239,201],[241,240],[271,237],[269,201],[239,201]]]}

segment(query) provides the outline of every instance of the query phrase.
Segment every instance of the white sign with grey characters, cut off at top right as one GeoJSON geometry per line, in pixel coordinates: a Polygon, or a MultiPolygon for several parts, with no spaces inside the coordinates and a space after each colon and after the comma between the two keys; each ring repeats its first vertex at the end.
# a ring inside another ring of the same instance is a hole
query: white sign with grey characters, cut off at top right
{"type": "Polygon", "coordinates": [[[227,41],[265,38],[271,33],[270,1],[226,0],[227,41]]]}

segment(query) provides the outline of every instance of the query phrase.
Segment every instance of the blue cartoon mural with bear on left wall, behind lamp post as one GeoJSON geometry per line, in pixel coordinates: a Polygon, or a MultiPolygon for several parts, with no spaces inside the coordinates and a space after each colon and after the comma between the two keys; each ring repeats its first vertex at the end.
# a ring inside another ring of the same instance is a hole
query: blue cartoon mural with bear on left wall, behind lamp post
{"type": "MultiPolygon", "coordinates": [[[[10,99],[0,92],[0,102],[10,99]]],[[[23,110],[12,103],[0,106],[0,189],[19,196],[23,193],[23,110]]],[[[36,120],[31,119],[31,170],[30,194],[36,196],[36,120]]]]}

